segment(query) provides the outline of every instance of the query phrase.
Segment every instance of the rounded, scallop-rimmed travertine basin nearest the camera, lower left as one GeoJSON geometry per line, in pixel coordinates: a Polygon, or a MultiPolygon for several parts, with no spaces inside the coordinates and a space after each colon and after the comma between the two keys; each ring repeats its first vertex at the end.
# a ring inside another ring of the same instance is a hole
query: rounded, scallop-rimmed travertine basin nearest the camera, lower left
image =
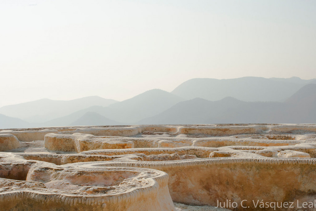
{"type": "Polygon", "coordinates": [[[174,210],[162,171],[63,166],[11,153],[1,153],[0,164],[2,210],[174,210]]]}

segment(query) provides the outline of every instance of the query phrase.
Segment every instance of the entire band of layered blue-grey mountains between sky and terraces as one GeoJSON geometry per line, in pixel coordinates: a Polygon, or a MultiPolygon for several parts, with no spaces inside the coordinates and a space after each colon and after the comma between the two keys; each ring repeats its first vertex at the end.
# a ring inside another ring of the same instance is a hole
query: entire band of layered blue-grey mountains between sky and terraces
{"type": "Polygon", "coordinates": [[[0,108],[0,128],[121,124],[316,123],[316,80],[194,78],[172,92],[117,102],[98,96],[0,108]],[[15,117],[15,118],[13,118],[15,117]]]}

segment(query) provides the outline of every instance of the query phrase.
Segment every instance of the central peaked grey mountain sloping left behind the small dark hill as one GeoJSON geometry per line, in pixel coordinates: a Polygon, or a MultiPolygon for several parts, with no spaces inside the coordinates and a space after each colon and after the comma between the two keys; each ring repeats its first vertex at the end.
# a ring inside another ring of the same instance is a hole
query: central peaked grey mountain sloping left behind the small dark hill
{"type": "MultiPolygon", "coordinates": [[[[72,122],[86,115],[87,112],[96,113],[110,120],[125,124],[135,123],[143,118],[159,114],[183,100],[183,98],[167,91],[154,89],[108,107],[92,106],[41,124],[46,127],[73,124],[72,122]]],[[[76,124],[86,125],[88,122],[85,119],[87,118],[88,116],[86,115],[81,121],[76,121],[76,124]]]]}

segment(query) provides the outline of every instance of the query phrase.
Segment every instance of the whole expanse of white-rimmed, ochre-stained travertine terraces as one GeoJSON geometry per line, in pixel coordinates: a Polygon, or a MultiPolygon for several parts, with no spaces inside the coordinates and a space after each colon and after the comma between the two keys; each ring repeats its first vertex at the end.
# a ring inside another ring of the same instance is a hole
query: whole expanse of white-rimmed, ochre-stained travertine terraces
{"type": "Polygon", "coordinates": [[[1,210],[211,210],[226,200],[260,210],[253,201],[316,198],[312,124],[5,129],[0,150],[1,210]]]}

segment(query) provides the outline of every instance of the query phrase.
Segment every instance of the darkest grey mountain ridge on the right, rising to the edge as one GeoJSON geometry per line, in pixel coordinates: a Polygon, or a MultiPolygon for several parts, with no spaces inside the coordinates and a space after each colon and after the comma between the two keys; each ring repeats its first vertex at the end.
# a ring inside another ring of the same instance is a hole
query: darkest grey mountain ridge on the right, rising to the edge
{"type": "Polygon", "coordinates": [[[232,97],[179,102],[139,124],[316,123],[316,84],[307,84],[285,102],[245,102],[232,97]]]}

